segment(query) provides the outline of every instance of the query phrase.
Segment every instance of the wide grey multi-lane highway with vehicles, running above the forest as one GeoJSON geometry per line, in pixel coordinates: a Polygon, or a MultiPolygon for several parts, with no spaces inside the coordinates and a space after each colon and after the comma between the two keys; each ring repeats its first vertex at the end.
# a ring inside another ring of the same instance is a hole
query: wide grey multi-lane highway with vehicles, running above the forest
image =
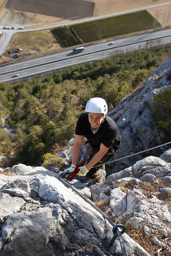
{"type": "Polygon", "coordinates": [[[19,78],[41,74],[54,69],[64,68],[75,64],[86,63],[93,60],[105,59],[117,55],[117,53],[132,52],[133,50],[149,49],[152,46],[160,46],[171,43],[171,29],[154,31],[152,33],[137,35],[113,41],[85,47],[81,53],[71,51],[57,53],[37,59],[22,61],[16,64],[5,65],[0,68],[0,82],[16,80],[14,75],[19,74],[19,78]]]}

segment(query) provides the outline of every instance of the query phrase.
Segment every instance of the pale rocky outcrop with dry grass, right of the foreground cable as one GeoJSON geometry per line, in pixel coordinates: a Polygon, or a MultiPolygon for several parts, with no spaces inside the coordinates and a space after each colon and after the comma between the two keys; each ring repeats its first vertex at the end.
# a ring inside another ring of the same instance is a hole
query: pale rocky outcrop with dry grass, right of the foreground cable
{"type": "MultiPolygon", "coordinates": [[[[166,161],[161,158],[146,157],[108,176],[104,185],[110,191],[110,202],[105,211],[115,223],[151,236],[153,245],[165,248],[167,255],[170,243],[166,241],[170,238],[165,238],[171,237],[171,162],[168,163],[170,156],[166,161]]],[[[90,187],[94,200],[104,198],[104,185],[96,183],[90,187]]]]}

